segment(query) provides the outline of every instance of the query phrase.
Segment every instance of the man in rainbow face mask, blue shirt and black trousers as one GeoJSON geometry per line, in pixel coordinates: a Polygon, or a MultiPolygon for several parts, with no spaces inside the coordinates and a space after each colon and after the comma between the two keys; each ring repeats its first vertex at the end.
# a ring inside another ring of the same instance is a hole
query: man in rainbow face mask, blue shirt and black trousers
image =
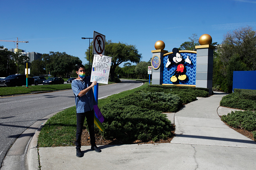
{"type": "Polygon", "coordinates": [[[76,106],[76,156],[82,157],[81,152],[81,134],[84,125],[84,119],[86,117],[88,130],[90,134],[91,149],[96,152],[101,150],[96,146],[94,135],[94,105],[96,101],[94,98],[94,92],[92,88],[97,84],[96,81],[90,82],[91,76],[85,77],[84,65],[79,64],[76,67],[76,73],[78,78],[72,81],[72,90],[75,95],[76,106]]]}

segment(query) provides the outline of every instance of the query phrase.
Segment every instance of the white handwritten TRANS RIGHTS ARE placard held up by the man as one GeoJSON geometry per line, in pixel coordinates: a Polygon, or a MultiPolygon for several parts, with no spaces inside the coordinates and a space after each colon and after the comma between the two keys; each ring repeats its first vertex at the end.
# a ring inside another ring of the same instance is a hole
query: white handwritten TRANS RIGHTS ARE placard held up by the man
{"type": "Polygon", "coordinates": [[[91,69],[91,82],[108,84],[109,70],[112,57],[103,55],[94,55],[94,61],[91,69]]]}

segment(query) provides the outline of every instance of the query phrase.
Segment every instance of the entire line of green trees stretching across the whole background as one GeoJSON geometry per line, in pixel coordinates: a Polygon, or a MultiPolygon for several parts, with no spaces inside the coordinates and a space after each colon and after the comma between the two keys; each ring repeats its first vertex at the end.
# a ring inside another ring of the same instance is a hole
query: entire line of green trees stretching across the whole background
{"type": "MultiPolygon", "coordinates": [[[[179,47],[180,50],[194,50],[199,45],[197,34],[192,34],[179,47]]],[[[224,35],[223,42],[216,46],[217,52],[214,52],[213,58],[213,89],[231,93],[233,85],[233,71],[251,71],[256,70],[256,31],[252,27],[241,27],[237,30],[229,31],[224,35]]],[[[90,75],[93,55],[89,54],[89,48],[92,52],[93,42],[91,42],[85,52],[89,64],[85,64],[87,76],[90,75]]],[[[0,76],[10,74],[24,74],[24,61],[28,60],[26,56],[15,54],[3,49],[0,46],[0,76]]],[[[150,61],[140,61],[142,56],[136,46],[126,43],[113,43],[111,40],[105,42],[105,55],[112,57],[110,67],[110,77],[112,80],[119,78],[148,79],[147,66],[150,61]],[[123,67],[120,64],[125,63],[123,67]],[[133,64],[132,64],[133,63],[133,64]]],[[[66,54],[66,52],[50,52],[43,54],[42,60],[35,60],[31,63],[31,75],[45,75],[62,77],[76,77],[74,67],[81,64],[78,57],[66,54]]]]}

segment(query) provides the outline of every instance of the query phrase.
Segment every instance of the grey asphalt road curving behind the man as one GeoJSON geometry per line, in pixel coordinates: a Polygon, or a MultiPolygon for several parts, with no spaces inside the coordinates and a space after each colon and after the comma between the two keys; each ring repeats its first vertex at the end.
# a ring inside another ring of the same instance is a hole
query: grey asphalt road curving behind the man
{"type": "MultiPolygon", "coordinates": [[[[140,85],[142,85],[141,82],[122,80],[121,83],[99,86],[98,99],[140,85]]],[[[71,106],[75,106],[72,90],[0,97],[0,167],[8,149],[23,131],[45,116],[71,106]]],[[[34,127],[34,131],[37,128],[34,127]]],[[[28,141],[23,142],[28,143],[28,141]]]]}

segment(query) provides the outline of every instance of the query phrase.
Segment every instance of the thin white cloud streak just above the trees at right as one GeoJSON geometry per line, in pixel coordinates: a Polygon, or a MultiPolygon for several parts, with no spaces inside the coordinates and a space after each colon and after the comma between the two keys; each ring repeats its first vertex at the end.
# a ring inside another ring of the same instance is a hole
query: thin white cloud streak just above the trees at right
{"type": "Polygon", "coordinates": [[[239,27],[245,27],[245,26],[255,27],[256,22],[242,22],[242,23],[230,23],[230,24],[215,24],[212,25],[212,28],[215,30],[234,30],[239,27]]]}

